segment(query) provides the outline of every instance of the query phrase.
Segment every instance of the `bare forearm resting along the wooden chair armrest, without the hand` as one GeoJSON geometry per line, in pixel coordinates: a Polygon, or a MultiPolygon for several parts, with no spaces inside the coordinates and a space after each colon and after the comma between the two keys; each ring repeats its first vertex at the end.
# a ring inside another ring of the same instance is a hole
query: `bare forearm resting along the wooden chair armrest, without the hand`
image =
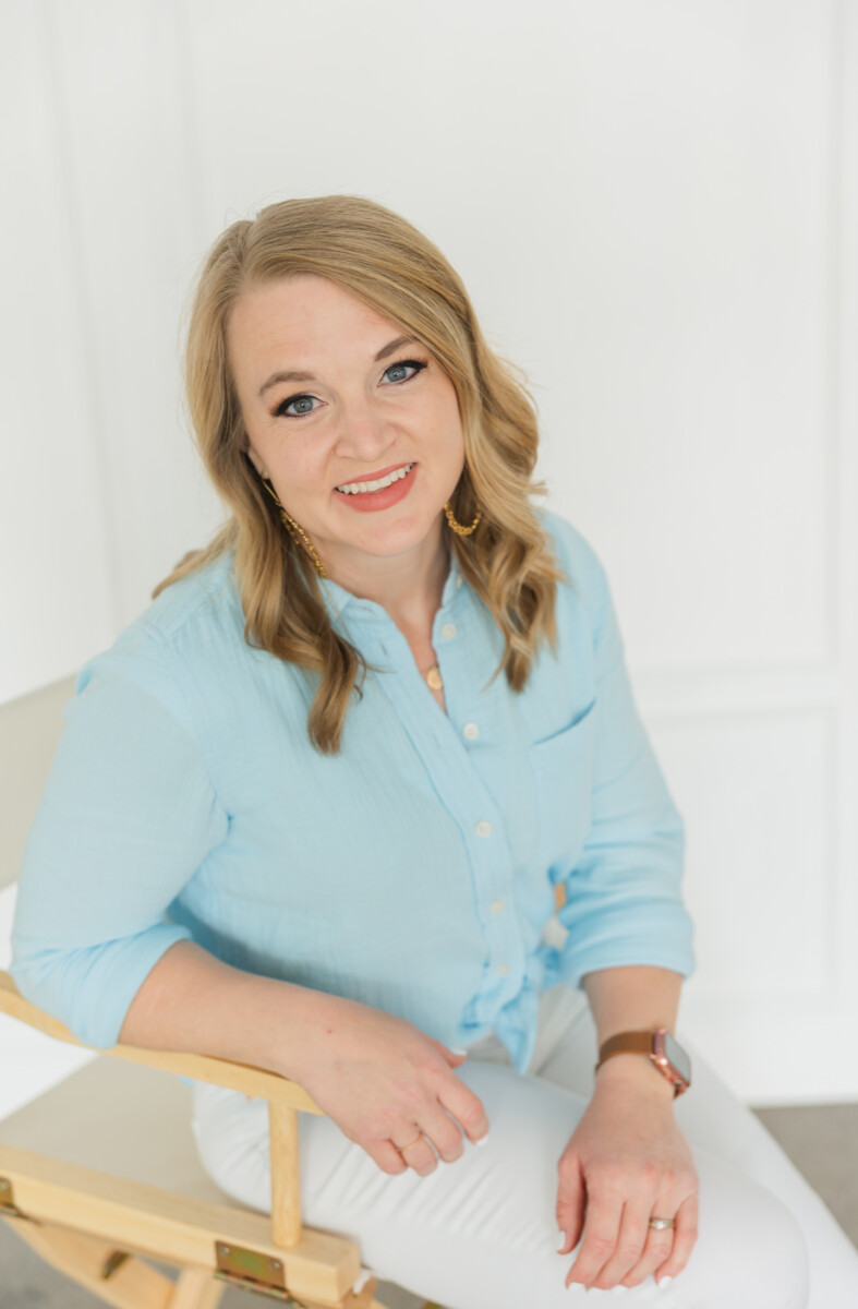
{"type": "Polygon", "coordinates": [[[336,999],[243,973],[194,941],[178,941],[135,995],[119,1041],[144,1050],[214,1055],[298,1081],[301,1052],[336,999]]]}

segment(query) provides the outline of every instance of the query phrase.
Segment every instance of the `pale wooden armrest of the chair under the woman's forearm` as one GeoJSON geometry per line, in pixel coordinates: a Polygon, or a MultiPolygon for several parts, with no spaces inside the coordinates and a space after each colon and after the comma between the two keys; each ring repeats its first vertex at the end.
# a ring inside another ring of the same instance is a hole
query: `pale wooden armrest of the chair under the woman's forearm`
{"type": "Polygon", "coordinates": [[[178,1076],[192,1077],[195,1081],[207,1081],[214,1086],[224,1086],[228,1090],[241,1090],[246,1096],[267,1100],[269,1105],[283,1105],[289,1109],[301,1109],[307,1114],[323,1114],[317,1102],[296,1081],[281,1077],[268,1068],[258,1068],[255,1064],[235,1063],[232,1059],[218,1059],[214,1055],[175,1054],[169,1050],[143,1050],[137,1046],[116,1045],[110,1050],[99,1050],[97,1046],[88,1046],[84,1041],[73,1037],[68,1028],[54,1018],[44,1009],[25,1000],[18,991],[9,973],[0,969],[0,1013],[8,1013],[10,1018],[18,1018],[30,1028],[43,1031],[56,1041],[65,1041],[72,1046],[82,1046],[84,1050],[95,1050],[99,1055],[112,1055],[115,1059],[128,1059],[131,1063],[149,1064],[150,1068],[162,1068],[178,1076]]]}

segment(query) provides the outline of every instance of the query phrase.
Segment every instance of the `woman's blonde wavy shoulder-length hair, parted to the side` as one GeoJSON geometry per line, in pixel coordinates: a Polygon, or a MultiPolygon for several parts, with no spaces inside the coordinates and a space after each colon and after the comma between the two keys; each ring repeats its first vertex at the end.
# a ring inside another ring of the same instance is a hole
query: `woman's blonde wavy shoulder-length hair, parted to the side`
{"type": "Polygon", "coordinates": [[[318,751],[337,754],[352,691],[362,695],[374,665],[332,627],[315,564],[285,530],[246,453],[226,351],[229,314],[242,292],[302,274],[339,283],[416,336],[455,386],[466,459],[450,505],[458,522],[471,524],[477,508],[481,518],[468,537],[450,533],[450,545],[505,640],[487,686],[505,672],[521,692],[539,643],[547,639],[556,652],[556,583],[566,575],[530,504],[532,495],[545,493],[544,482],[531,479],[536,403],[522,370],[489,350],[462,280],[441,251],[398,213],[354,195],[283,200],[233,223],[203,260],[183,361],[196,445],[232,513],[208,546],[190,551],[158,583],[152,598],[234,551],[245,640],[318,674],[307,734],[318,751]]]}

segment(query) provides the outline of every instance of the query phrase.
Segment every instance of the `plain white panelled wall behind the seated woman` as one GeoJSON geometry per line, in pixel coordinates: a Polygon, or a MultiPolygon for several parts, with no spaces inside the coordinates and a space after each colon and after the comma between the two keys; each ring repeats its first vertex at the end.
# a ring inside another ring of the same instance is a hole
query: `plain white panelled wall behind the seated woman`
{"type": "Polygon", "coordinates": [[[608,568],[688,826],[680,1022],[756,1102],[857,1097],[857,10],[5,0],[0,702],[221,518],[177,343],[214,236],[379,200],[527,369],[608,568]]]}

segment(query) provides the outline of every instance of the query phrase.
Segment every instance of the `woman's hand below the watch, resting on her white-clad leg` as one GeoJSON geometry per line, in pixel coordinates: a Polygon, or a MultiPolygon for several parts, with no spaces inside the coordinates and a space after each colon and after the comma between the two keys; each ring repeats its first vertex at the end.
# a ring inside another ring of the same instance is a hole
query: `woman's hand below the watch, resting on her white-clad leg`
{"type": "Polygon", "coordinates": [[[566,1234],[558,1253],[581,1240],[566,1285],[637,1287],[650,1274],[661,1282],[685,1267],[697,1240],[698,1182],[672,1101],[670,1083],[640,1055],[615,1056],[599,1069],[557,1164],[557,1225],[566,1234]],[[651,1217],[676,1227],[657,1230],[651,1217]]]}

